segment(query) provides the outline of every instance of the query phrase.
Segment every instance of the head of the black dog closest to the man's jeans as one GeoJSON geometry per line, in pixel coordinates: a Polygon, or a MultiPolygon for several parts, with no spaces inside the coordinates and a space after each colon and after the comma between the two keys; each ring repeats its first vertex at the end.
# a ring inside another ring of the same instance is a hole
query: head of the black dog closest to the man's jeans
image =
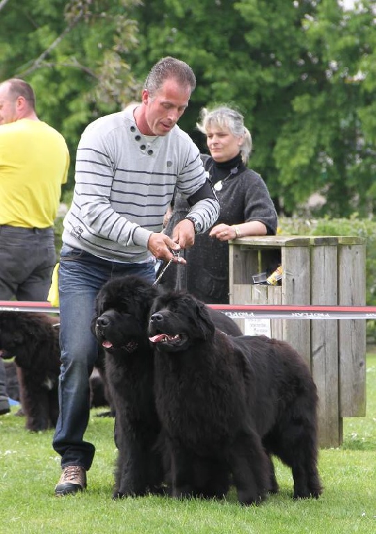
{"type": "Polygon", "coordinates": [[[136,275],[115,277],[101,287],[92,333],[108,353],[133,353],[147,343],[147,318],[156,294],[156,287],[136,275]]]}

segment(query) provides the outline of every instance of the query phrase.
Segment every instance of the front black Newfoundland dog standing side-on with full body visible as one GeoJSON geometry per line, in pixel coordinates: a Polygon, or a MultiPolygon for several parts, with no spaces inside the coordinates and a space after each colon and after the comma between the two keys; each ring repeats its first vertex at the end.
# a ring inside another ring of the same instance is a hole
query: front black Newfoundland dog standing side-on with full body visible
{"type": "Polygon", "coordinates": [[[154,300],[156,410],[171,454],[172,495],[258,503],[278,485],[270,456],[291,467],[295,499],[318,498],[318,397],[304,360],[283,341],[230,337],[188,294],[154,300]]]}

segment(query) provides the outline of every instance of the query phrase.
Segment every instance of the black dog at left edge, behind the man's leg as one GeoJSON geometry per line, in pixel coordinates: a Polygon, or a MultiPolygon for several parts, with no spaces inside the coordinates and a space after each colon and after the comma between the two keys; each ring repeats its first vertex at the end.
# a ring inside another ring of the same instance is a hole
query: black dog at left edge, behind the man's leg
{"type": "Polygon", "coordinates": [[[58,319],[34,312],[0,312],[1,357],[15,357],[26,428],[56,426],[60,372],[58,319]]]}

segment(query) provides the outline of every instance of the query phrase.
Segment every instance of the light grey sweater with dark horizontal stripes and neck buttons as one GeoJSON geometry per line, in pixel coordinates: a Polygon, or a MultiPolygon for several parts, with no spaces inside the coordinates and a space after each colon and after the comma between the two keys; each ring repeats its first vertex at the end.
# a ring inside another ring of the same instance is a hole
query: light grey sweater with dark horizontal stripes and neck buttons
{"type": "MultiPolygon", "coordinates": [[[[112,261],[153,261],[147,241],[162,231],[175,185],[188,198],[206,177],[198,148],[177,125],[166,136],[145,136],[131,107],[99,118],[79,142],[63,243],[112,261]]],[[[219,204],[200,200],[190,213],[205,232],[219,204]]]]}

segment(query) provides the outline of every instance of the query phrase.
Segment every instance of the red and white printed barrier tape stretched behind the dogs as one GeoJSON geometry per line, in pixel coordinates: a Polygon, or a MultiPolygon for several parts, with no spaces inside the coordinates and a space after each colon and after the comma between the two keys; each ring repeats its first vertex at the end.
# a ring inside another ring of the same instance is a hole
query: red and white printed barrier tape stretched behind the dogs
{"type": "MultiPolygon", "coordinates": [[[[271,304],[209,304],[231,318],[263,317],[269,319],[375,319],[375,306],[300,306],[271,304]]],[[[0,311],[44,312],[58,314],[49,302],[0,300],[0,311]]]]}

